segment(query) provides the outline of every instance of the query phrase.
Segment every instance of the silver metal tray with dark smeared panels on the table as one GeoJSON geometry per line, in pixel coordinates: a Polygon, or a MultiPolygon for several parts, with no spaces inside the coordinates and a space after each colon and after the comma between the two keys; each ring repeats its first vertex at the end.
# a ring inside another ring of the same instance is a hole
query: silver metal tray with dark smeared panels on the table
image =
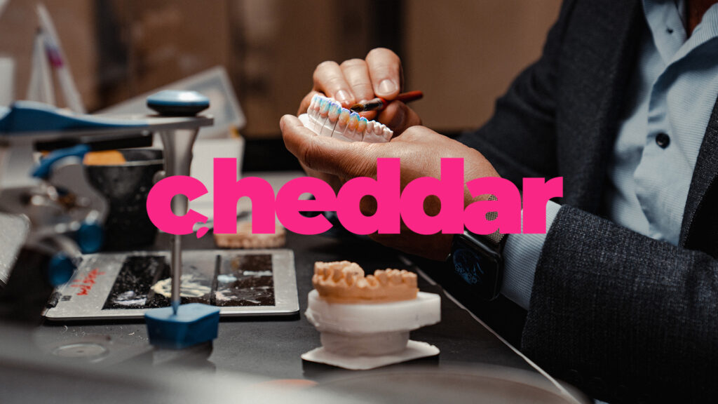
{"type": "MultiPolygon", "coordinates": [[[[281,316],[299,311],[294,254],[289,249],[187,250],[182,303],[220,307],[220,316],[281,316]],[[187,289],[189,291],[189,289],[187,289]]],[[[57,289],[45,317],[52,321],[143,318],[148,308],[169,306],[151,289],[169,277],[169,252],[140,251],[83,256],[70,282],[57,289]]]]}

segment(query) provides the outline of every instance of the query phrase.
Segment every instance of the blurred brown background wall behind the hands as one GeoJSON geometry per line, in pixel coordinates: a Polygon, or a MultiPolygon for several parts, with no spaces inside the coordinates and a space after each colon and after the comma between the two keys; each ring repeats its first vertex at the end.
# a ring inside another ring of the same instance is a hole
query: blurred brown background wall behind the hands
{"type": "MultiPolygon", "coordinates": [[[[2,3],[3,0],[0,0],[2,3]]],[[[9,0],[0,16],[0,58],[14,60],[11,88],[29,84],[34,0],[9,0]]],[[[221,65],[246,126],[244,170],[295,164],[279,118],[297,112],[323,60],[363,58],[388,47],[404,61],[407,90],[426,126],[455,134],[478,127],[495,98],[541,54],[560,0],[47,0],[88,111],[98,111],[221,65]],[[276,158],[267,158],[275,153],[276,158]]],[[[60,94],[60,91],[55,91],[60,94]]],[[[57,104],[65,100],[57,97],[57,104]]]]}

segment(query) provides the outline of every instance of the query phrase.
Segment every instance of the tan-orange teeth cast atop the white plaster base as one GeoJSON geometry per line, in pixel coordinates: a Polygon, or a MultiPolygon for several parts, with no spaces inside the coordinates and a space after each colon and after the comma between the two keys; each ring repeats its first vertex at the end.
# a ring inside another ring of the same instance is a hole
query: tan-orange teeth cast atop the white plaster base
{"type": "Polygon", "coordinates": [[[355,262],[315,262],[314,289],[332,303],[385,303],[416,298],[416,274],[407,270],[376,270],[364,276],[355,262]]]}

